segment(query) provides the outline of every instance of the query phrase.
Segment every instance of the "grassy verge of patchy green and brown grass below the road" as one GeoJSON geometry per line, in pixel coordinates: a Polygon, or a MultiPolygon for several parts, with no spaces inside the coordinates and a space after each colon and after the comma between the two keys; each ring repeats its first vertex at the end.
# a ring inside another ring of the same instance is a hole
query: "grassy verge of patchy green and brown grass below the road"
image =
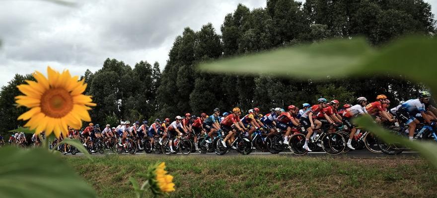
{"type": "MultiPolygon", "coordinates": [[[[141,180],[165,161],[175,179],[170,197],[436,197],[436,169],[421,159],[285,156],[105,156],[66,160],[103,198],[134,197],[141,180]]],[[[141,181],[142,183],[142,181],[141,181]]]]}

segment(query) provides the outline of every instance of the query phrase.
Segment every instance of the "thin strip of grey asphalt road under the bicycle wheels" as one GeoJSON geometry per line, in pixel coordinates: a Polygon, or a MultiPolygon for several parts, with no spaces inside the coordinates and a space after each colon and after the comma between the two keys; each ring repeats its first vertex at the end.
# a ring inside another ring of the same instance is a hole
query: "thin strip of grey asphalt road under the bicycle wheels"
{"type": "MultiPolygon", "coordinates": [[[[115,154],[115,153],[113,153],[110,150],[105,150],[105,153],[103,153],[103,154],[92,153],[91,155],[98,157],[98,156],[105,156],[107,154],[115,154]]],[[[128,153],[122,153],[122,154],[123,155],[130,155],[128,153]]],[[[68,153],[66,155],[67,156],[71,156],[71,157],[74,157],[74,156],[83,156],[83,153],[77,153],[75,155],[72,155],[72,154],[68,153]]],[[[133,156],[147,156],[147,155],[150,155],[150,156],[169,156],[169,157],[171,157],[171,156],[182,156],[181,153],[166,155],[166,154],[163,154],[163,153],[161,153],[161,154],[145,153],[144,151],[139,151],[139,152],[137,152],[133,156]]],[[[235,150],[231,150],[231,151],[229,151],[228,153],[226,153],[224,155],[217,155],[214,152],[205,153],[205,154],[202,154],[202,153],[199,153],[199,152],[193,152],[193,153],[190,153],[189,155],[196,155],[196,156],[218,156],[219,157],[219,156],[242,155],[242,154],[238,153],[235,150]]],[[[281,152],[279,154],[272,154],[270,152],[259,152],[258,150],[254,150],[249,155],[242,155],[242,156],[252,156],[252,155],[271,155],[271,156],[281,155],[281,156],[285,156],[285,157],[300,157],[298,155],[295,155],[295,154],[291,153],[290,150],[285,150],[285,151],[283,151],[283,152],[281,152]]],[[[340,158],[345,158],[346,157],[346,158],[366,158],[366,159],[368,159],[368,158],[410,158],[410,157],[414,158],[414,157],[419,157],[420,153],[416,152],[416,151],[404,151],[404,152],[402,152],[400,154],[397,154],[397,155],[387,155],[387,154],[383,154],[383,153],[381,153],[381,154],[372,153],[372,152],[370,152],[370,151],[368,151],[367,149],[364,148],[362,150],[353,150],[353,151],[349,151],[347,153],[343,153],[343,154],[339,154],[339,155],[329,155],[329,154],[326,154],[325,152],[308,152],[306,155],[303,155],[303,156],[309,156],[309,157],[330,156],[330,157],[340,157],[340,158]]]]}

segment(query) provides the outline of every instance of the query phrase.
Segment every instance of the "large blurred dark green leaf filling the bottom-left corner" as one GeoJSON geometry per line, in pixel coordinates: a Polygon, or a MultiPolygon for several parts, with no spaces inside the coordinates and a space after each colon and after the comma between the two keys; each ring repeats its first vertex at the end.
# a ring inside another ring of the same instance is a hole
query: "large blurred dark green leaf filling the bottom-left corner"
{"type": "Polygon", "coordinates": [[[0,149],[0,197],[95,198],[95,191],[46,149],[0,149]]]}

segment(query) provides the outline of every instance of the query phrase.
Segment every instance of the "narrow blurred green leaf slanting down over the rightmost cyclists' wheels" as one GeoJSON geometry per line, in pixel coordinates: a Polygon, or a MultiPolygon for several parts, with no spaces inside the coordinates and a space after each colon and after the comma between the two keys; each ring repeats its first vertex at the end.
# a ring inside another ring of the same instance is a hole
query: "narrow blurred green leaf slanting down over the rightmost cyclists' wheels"
{"type": "Polygon", "coordinates": [[[391,134],[390,132],[379,127],[374,121],[366,116],[357,118],[354,120],[359,126],[363,126],[366,130],[376,134],[378,138],[390,143],[400,143],[408,148],[413,148],[420,152],[427,160],[429,160],[435,167],[437,167],[437,145],[431,142],[416,142],[410,141],[406,138],[402,138],[391,134]]]}

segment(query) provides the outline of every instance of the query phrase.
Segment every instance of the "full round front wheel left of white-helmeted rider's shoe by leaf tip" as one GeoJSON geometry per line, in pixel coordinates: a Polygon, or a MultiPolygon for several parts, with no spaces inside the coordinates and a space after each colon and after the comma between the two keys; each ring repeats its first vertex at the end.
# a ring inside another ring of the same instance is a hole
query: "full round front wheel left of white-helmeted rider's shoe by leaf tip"
{"type": "Polygon", "coordinates": [[[325,134],[321,137],[323,150],[330,155],[338,155],[346,147],[345,139],[338,133],[325,134]]]}

